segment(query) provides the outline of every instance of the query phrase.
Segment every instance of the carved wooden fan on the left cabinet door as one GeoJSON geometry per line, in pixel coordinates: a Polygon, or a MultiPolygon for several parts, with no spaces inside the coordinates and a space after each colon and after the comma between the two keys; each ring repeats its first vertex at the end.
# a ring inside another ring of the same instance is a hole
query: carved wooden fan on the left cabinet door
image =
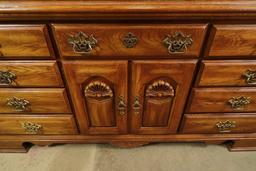
{"type": "Polygon", "coordinates": [[[113,97],[111,88],[102,81],[93,81],[84,89],[85,97],[110,98],[113,97]]]}

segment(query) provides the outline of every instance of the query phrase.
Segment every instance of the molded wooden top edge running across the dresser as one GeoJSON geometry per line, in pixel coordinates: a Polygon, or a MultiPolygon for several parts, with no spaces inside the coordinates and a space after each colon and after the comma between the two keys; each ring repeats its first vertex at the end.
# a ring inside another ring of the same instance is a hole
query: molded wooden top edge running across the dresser
{"type": "Polygon", "coordinates": [[[255,0],[0,1],[0,20],[256,18],[255,0]],[[118,15],[117,15],[118,14],[118,15]]]}

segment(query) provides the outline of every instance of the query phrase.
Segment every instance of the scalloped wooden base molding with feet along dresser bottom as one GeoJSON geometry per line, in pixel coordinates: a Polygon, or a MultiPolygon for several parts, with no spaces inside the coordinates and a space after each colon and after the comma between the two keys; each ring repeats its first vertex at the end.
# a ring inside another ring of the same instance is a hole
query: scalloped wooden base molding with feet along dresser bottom
{"type": "Polygon", "coordinates": [[[230,151],[256,150],[256,134],[172,134],[172,135],[1,135],[0,152],[27,152],[29,146],[54,144],[108,143],[132,148],[159,142],[204,142],[228,145],[230,151]]]}

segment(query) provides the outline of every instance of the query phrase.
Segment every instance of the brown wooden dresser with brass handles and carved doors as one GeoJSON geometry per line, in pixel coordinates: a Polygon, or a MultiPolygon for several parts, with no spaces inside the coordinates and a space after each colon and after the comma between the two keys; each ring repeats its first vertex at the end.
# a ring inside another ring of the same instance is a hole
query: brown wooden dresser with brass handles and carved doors
{"type": "Polygon", "coordinates": [[[0,1],[0,151],[256,150],[256,1],[0,1]]]}

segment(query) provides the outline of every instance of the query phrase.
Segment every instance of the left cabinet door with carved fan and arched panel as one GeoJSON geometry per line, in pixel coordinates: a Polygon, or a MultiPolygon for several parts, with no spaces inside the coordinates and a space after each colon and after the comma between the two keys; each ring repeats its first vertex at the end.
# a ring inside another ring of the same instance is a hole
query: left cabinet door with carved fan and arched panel
{"type": "Polygon", "coordinates": [[[82,134],[127,132],[127,61],[64,61],[82,134]]]}

